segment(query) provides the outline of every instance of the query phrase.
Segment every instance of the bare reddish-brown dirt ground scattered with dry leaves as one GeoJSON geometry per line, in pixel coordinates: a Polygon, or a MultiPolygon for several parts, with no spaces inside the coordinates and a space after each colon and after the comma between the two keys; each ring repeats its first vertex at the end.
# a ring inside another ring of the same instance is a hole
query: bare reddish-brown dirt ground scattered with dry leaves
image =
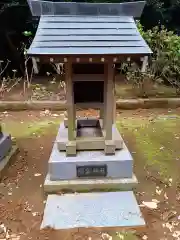
{"type": "MultiPolygon", "coordinates": [[[[180,115],[180,110],[173,110],[170,113],[180,115]]],[[[153,118],[157,114],[169,114],[169,112],[168,110],[154,110],[153,112],[138,110],[119,114],[119,118],[128,121],[129,118],[153,118]]],[[[36,121],[47,119],[52,121],[59,118],[60,113],[44,115],[39,112],[1,114],[2,121],[6,122],[10,129],[12,129],[10,126],[12,120],[20,125],[21,121],[35,124],[36,121]]],[[[13,131],[16,135],[17,130],[13,131]]],[[[14,237],[11,238],[13,240],[100,240],[102,239],[100,233],[90,230],[73,235],[70,232],[67,234],[51,229],[44,232],[39,231],[46,200],[43,193],[43,182],[56,131],[50,132],[46,132],[44,136],[42,133],[38,133],[36,137],[30,135],[26,138],[17,134],[20,152],[13,159],[11,166],[4,171],[0,181],[0,224],[7,227],[8,234],[14,237]]],[[[135,157],[135,173],[140,182],[136,189],[139,204],[142,204],[142,201],[152,201],[152,199],[159,201],[156,210],[142,208],[147,228],[144,232],[136,234],[138,239],[179,239],[177,236],[180,235],[180,193],[177,183],[171,183],[169,179],[167,182],[163,182],[155,169],[144,165],[145,156],[137,151],[136,139],[132,137],[130,131],[124,131],[124,137],[135,157]]],[[[0,239],[6,239],[4,233],[1,234],[1,229],[0,239]]],[[[126,239],[134,240],[136,238],[126,239]]],[[[113,240],[117,239],[113,238],[113,240]]]]}

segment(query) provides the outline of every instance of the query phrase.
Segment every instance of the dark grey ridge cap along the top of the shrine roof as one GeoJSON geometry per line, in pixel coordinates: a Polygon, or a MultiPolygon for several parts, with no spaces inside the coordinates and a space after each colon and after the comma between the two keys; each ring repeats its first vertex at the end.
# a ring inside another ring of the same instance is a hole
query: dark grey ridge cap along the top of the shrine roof
{"type": "Polygon", "coordinates": [[[27,0],[33,16],[41,15],[111,15],[141,16],[145,1],[123,3],[53,2],[27,0]]]}

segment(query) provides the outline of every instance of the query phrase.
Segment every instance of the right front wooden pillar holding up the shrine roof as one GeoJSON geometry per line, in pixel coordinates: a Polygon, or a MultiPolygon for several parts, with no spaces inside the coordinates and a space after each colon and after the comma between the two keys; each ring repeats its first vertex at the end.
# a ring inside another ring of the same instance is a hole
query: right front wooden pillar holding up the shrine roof
{"type": "Polygon", "coordinates": [[[114,94],[113,94],[113,63],[110,60],[107,66],[107,76],[106,83],[107,91],[106,91],[106,112],[105,112],[105,131],[106,131],[106,139],[112,140],[112,124],[113,124],[113,108],[114,108],[114,94]]]}

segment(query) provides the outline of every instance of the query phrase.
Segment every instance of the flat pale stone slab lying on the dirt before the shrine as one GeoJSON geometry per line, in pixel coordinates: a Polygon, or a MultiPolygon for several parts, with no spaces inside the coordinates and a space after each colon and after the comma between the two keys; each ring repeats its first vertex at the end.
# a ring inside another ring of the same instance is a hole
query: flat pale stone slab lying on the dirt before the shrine
{"type": "Polygon", "coordinates": [[[136,198],[128,191],[49,195],[41,229],[120,230],[144,226],[136,198]]]}

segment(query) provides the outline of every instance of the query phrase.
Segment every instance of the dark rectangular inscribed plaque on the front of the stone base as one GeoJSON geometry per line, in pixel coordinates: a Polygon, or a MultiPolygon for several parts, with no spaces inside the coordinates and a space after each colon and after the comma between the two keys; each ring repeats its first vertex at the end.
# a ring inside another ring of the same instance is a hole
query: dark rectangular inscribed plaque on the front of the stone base
{"type": "Polygon", "coordinates": [[[77,177],[106,177],[107,165],[77,166],[77,177]]]}

